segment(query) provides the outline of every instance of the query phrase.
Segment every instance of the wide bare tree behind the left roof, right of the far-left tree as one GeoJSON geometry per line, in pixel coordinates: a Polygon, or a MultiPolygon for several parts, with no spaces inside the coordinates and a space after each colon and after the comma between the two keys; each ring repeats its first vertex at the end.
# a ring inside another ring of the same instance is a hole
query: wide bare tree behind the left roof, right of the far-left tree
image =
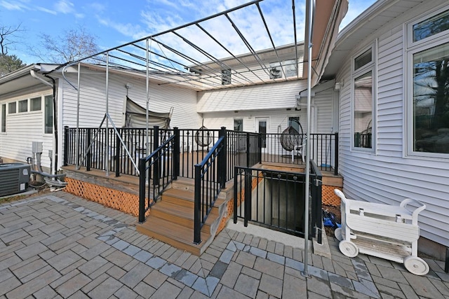
{"type": "Polygon", "coordinates": [[[69,29],[62,36],[53,37],[41,34],[40,46],[43,50],[30,49],[34,56],[43,62],[62,64],[98,53],[96,36],[88,33],[84,27],[69,29]]]}

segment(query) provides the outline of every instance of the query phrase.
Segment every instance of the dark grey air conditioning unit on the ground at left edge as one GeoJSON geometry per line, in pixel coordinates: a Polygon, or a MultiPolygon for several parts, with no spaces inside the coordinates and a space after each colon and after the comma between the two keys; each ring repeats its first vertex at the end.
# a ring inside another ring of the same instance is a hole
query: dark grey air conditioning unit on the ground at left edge
{"type": "Polygon", "coordinates": [[[24,163],[0,164],[0,196],[20,193],[28,188],[31,165],[24,163]]]}

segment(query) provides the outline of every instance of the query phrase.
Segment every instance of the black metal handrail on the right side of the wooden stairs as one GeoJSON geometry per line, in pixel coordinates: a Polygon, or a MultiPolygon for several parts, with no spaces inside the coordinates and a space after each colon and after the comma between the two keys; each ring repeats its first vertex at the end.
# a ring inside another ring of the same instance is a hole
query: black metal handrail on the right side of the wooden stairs
{"type": "Polygon", "coordinates": [[[226,128],[204,159],[195,165],[194,243],[201,243],[201,228],[226,183],[226,128]]]}

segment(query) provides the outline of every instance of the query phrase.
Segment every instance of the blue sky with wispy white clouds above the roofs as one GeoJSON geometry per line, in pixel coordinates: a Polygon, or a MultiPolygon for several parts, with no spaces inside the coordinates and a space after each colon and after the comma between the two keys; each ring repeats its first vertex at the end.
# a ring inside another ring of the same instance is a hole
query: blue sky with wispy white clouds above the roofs
{"type": "MultiPolygon", "coordinates": [[[[107,50],[130,41],[141,39],[185,25],[215,13],[226,11],[249,0],[0,0],[0,28],[17,27],[21,32],[8,47],[8,54],[17,55],[26,64],[41,62],[32,55],[30,48],[39,48],[42,34],[64,36],[70,29],[83,27],[95,36],[100,50],[107,50]]],[[[371,6],[375,0],[349,0],[349,10],[340,29],[371,6]]],[[[267,22],[276,24],[276,32],[290,32],[288,18],[282,15],[284,8],[291,9],[290,0],[264,0],[260,4],[267,22]]],[[[305,11],[305,1],[296,0],[298,41],[304,40],[304,25],[300,20],[305,11]]],[[[242,11],[232,15],[239,27],[257,39],[257,28],[251,18],[242,11]]],[[[210,25],[208,29],[220,30],[210,25]]],[[[244,32],[245,33],[245,32],[244,32]]],[[[285,40],[288,36],[285,36],[285,40]]],[[[283,35],[274,37],[276,46],[283,43],[283,35]]],[[[232,46],[232,41],[227,41],[232,46]]]]}

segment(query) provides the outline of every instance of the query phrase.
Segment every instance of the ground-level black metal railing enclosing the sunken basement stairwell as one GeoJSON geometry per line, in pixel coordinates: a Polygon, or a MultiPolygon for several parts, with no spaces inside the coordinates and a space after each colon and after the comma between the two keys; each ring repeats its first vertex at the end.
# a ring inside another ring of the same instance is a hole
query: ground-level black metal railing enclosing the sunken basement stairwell
{"type": "MultiPolygon", "coordinates": [[[[234,223],[243,218],[245,226],[251,222],[304,237],[304,173],[236,166],[235,174],[234,223]]],[[[309,237],[318,237],[321,243],[320,182],[321,172],[314,165],[310,174],[309,237]]]]}

